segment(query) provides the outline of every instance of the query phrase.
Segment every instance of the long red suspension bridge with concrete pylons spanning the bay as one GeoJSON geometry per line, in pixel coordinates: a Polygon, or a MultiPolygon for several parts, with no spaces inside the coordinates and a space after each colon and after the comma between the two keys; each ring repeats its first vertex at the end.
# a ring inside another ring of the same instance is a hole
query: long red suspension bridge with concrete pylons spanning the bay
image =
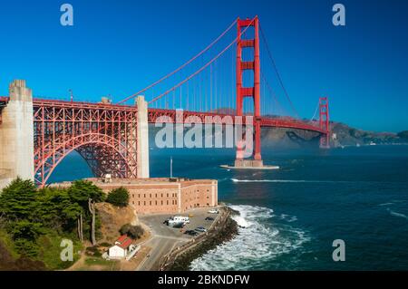
{"type": "MultiPolygon", "coordinates": [[[[34,141],[32,152],[28,154],[34,156],[33,176],[40,186],[46,184],[53,169],[73,150],[83,156],[97,177],[106,174],[114,178],[149,177],[147,134],[143,135],[141,123],[155,123],[163,116],[176,121],[177,110],[182,110],[183,121],[189,117],[204,122],[209,116],[219,119],[253,116],[254,152],[250,161],[255,166],[262,166],[262,127],[315,131],[320,134],[320,146],[329,146],[327,98],[319,98],[311,120],[299,118],[257,17],[237,19],[178,69],[115,104],[107,99],[99,103],[72,98],[69,101],[31,99],[31,93],[24,81],[15,81],[10,85],[10,95],[0,97],[0,134],[3,133],[4,141],[7,136],[13,137],[5,134],[5,128],[13,126],[8,123],[12,121],[9,117],[14,113],[13,103],[31,101],[33,118],[29,121],[33,134],[24,134],[17,142],[24,142],[24,138],[34,141]],[[238,34],[231,33],[234,27],[238,34]],[[283,98],[278,98],[278,91],[283,98]],[[142,100],[134,105],[134,99],[140,95],[148,99],[146,115],[141,113],[142,100]]],[[[15,107],[21,112],[21,105],[15,107]]],[[[30,110],[30,106],[24,109],[30,110]]],[[[15,144],[14,151],[18,152],[19,148],[15,144]]],[[[22,177],[32,174],[31,169],[16,168],[18,162],[24,160],[15,159],[16,165],[12,165],[13,160],[6,160],[8,152],[4,149],[1,153],[5,160],[0,161],[0,169],[14,169],[14,174],[22,177]]],[[[242,161],[242,148],[238,146],[236,165],[242,161]]]]}

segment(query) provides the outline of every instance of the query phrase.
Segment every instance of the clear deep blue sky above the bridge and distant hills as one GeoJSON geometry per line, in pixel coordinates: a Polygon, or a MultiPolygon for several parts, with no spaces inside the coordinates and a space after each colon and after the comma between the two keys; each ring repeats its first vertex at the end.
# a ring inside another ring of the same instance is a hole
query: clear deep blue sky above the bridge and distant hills
{"type": "Polygon", "coordinates": [[[2,1],[0,95],[25,79],[34,95],[115,101],[198,53],[240,16],[258,15],[297,111],[320,95],[332,120],[408,130],[408,1],[2,1]],[[74,9],[63,27],[60,5],[74,9]],[[332,24],[343,3],[345,27],[332,24]]]}

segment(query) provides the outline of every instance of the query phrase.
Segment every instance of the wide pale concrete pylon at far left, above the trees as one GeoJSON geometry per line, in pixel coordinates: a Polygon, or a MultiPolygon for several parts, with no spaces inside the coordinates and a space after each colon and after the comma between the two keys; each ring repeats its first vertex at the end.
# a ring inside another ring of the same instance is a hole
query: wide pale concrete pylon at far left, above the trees
{"type": "Polygon", "coordinates": [[[0,188],[17,177],[34,180],[33,92],[16,80],[9,96],[0,124],[0,188]]]}

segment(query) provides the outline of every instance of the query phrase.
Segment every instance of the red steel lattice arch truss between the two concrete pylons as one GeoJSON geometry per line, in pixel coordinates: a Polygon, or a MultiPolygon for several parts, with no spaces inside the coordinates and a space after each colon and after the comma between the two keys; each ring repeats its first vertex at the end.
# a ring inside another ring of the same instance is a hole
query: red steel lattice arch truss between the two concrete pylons
{"type": "Polygon", "coordinates": [[[34,178],[44,186],[73,150],[96,177],[137,178],[137,108],[34,100],[34,178]]]}

